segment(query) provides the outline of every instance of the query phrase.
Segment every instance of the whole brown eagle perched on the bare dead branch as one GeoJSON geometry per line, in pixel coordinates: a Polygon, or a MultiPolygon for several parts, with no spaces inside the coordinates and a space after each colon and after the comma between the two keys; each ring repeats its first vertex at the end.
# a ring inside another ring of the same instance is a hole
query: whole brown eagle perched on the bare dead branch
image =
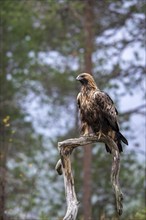
{"type": "MultiPolygon", "coordinates": [[[[126,138],[120,133],[118,125],[118,111],[112,99],[97,87],[93,77],[88,73],[81,73],[77,78],[81,83],[81,91],[77,96],[81,119],[82,135],[99,132],[110,136],[122,152],[121,141],[128,145],[126,138]]],[[[111,153],[106,145],[107,152],[111,153]]]]}

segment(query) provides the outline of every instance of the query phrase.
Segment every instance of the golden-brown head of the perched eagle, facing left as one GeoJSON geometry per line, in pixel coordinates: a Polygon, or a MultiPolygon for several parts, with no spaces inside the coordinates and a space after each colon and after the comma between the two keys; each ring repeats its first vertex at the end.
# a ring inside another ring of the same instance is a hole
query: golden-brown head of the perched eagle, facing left
{"type": "Polygon", "coordinates": [[[96,87],[96,83],[93,79],[93,76],[89,73],[81,73],[77,76],[76,80],[80,81],[83,86],[96,87]]]}

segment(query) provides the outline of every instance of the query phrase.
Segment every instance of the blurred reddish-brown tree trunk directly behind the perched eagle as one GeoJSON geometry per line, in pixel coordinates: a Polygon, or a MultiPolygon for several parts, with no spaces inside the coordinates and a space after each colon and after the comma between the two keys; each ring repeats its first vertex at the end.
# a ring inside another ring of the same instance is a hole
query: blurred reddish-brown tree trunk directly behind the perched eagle
{"type": "MultiPolygon", "coordinates": [[[[93,4],[94,0],[85,0],[84,33],[85,33],[85,72],[92,74],[92,53],[93,53],[93,4]]],[[[92,147],[85,146],[83,157],[83,216],[84,220],[92,217],[91,206],[91,161],[92,147]]]]}

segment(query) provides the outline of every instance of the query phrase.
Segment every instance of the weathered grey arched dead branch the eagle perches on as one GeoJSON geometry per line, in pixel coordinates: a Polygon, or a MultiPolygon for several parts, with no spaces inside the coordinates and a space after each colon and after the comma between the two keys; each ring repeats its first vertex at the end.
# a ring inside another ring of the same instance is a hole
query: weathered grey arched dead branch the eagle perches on
{"type": "Polygon", "coordinates": [[[79,138],[71,138],[58,143],[58,149],[60,152],[61,159],[57,162],[55,169],[58,174],[63,174],[64,185],[67,201],[67,212],[64,220],[75,220],[78,212],[78,204],[75,188],[74,178],[71,170],[70,155],[74,148],[78,146],[85,146],[87,144],[103,142],[108,144],[111,149],[113,160],[111,169],[111,182],[115,192],[116,206],[118,215],[122,214],[123,210],[123,194],[119,185],[119,170],[120,170],[120,154],[116,143],[108,136],[102,134],[99,138],[97,136],[82,136],[79,138]]]}

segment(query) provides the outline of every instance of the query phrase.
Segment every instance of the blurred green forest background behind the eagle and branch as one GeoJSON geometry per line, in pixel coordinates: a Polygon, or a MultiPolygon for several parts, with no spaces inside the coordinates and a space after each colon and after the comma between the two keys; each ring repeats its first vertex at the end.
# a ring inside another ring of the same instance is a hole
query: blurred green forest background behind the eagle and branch
{"type": "MultiPolygon", "coordinates": [[[[121,220],[145,219],[144,12],[142,0],[0,0],[1,220],[65,214],[57,142],[79,136],[75,77],[87,71],[116,102],[129,140],[121,220]]],[[[115,219],[111,155],[98,143],[92,163],[83,158],[83,148],[72,155],[78,219],[115,219]]]]}

